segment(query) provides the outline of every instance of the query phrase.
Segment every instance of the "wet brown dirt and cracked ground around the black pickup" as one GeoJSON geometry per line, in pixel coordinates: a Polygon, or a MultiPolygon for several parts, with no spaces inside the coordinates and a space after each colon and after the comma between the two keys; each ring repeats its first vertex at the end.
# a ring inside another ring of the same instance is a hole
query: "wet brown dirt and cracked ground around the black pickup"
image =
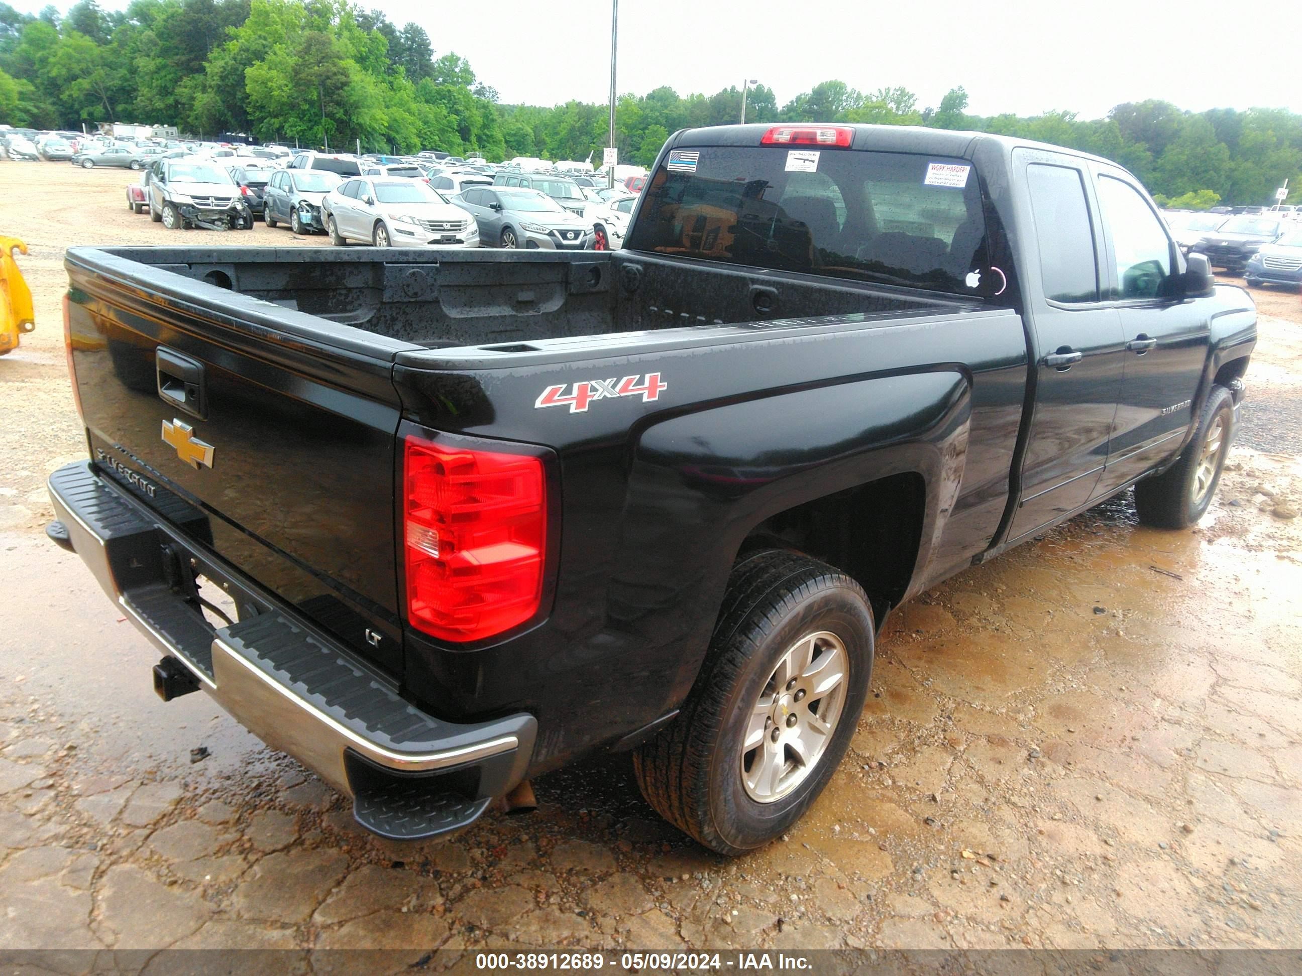
{"type": "Polygon", "coordinates": [[[535,813],[402,846],[203,695],[161,704],[158,655],[43,537],[44,478],[85,452],[62,249],[172,234],[126,211],[134,174],[17,165],[0,233],[31,245],[38,328],[0,358],[0,949],[1302,945],[1295,294],[1254,293],[1203,523],[1142,528],[1122,496],[905,606],[783,842],[703,852],[612,756],[539,779],[535,813]]]}

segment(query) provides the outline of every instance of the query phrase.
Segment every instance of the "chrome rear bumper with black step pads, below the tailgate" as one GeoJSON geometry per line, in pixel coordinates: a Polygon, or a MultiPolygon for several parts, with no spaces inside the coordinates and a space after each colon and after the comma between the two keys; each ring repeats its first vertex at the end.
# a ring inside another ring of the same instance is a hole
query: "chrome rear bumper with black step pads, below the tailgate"
{"type": "MultiPolygon", "coordinates": [[[[258,738],[353,796],[368,829],[401,838],[460,829],[523,778],[533,716],[462,725],[417,709],[383,674],[154,509],[204,518],[182,500],[146,506],[89,461],[51,475],[49,497],[70,548],[155,647],[258,738]],[[194,573],[229,592],[242,619],[212,627],[187,596],[194,573]]],[[[62,534],[51,537],[64,544],[62,534]]]]}

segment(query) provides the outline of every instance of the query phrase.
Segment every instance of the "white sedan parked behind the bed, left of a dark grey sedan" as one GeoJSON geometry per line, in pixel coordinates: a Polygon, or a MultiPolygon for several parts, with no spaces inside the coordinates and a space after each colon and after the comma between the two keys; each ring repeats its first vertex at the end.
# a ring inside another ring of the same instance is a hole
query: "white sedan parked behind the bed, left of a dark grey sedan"
{"type": "Polygon", "coordinates": [[[376,247],[478,247],[479,226],[466,211],[418,180],[361,177],[322,200],[331,243],[376,247]]]}

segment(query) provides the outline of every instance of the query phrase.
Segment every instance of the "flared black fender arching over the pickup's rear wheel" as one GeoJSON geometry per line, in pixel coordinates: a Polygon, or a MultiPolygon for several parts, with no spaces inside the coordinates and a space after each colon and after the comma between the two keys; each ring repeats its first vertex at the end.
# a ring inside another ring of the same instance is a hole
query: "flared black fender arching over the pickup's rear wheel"
{"type": "Polygon", "coordinates": [[[647,427],[621,519],[626,558],[608,584],[611,617],[637,630],[642,619],[663,626],[658,609],[680,608],[677,636],[691,651],[673,686],[685,694],[747,534],[797,505],[901,472],[926,485],[913,592],[958,495],[970,393],[966,372],[944,367],[732,402],[647,427]]]}

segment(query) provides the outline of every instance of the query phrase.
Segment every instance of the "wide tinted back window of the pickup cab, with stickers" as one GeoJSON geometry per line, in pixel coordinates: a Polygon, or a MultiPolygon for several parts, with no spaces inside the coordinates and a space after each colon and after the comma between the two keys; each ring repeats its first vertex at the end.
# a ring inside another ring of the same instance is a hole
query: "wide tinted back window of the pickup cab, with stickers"
{"type": "Polygon", "coordinates": [[[854,150],[673,150],[631,250],[966,295],[993,294],[969,160],[854,150]],[[973,273],[975,272],[975,273],[973,273]]]}

